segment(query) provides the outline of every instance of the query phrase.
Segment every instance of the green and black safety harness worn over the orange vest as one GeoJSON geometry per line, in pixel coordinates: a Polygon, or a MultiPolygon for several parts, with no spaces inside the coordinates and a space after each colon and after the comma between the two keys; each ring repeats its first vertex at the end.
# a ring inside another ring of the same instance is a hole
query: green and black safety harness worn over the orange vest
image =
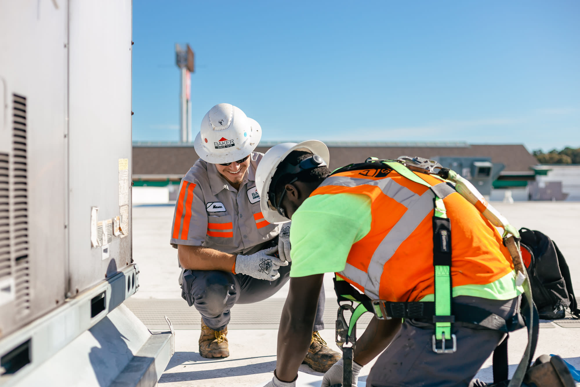
{"type": "MultiPolygon", "coordinates": [[[[418,158],[416,158],[418,159],[418,158]]],[[[427,162],[429,169],[433,171],[435,162],[426,159],[420,159],[427,162]]],[[[452,282],[451,282],[451,223],[447,217],[447,211],[443,199],[449,194],[456,192],[454,185],[445,179],[449,170],[443,170],[443,176],[430,173],[441,180],[441,184],[431,185],[420,178],[405,166],[399,160],[378,160],[369,157],[367,162],[361,164],[351,164],[339,171],[356,170],[368,168],[369,163],[386,164],[391,170],[418,184],[425,185],[434,194],[433,207],[433,270],[434,270],[434,301],[433,302],[387,302],[380,299],[370,299],[353,288],[347,281],[335,275],[334,287],[338,299],[339,309],[336,319],[336,344],[343,350],[343,386],[351,385],[352,381],[352,357],[353,347],[356,343],[356,322],[365,312],[369,311],[375,315],[378,320],[390,318],[412,318],[432,322],[435,331],[432,336],[432,348],[435,353],[454,353],[457,349],[457,339],[452,334],[452,324],[455,322],[469,322],[471,324],[481,325],[482,327],[505,332],[506,334],[516,329],[524,327],[524,320],[520,313],[516,313],[509,320],[491,313],[480,307],[454,303],[452,299],[452,282]],[[356,304],[356,306],[355,306],[356,304]],[[351,317],[347,323],[344,312],[349,310],[351,317]],[[449,341],[451,341],[450,344],[449,341]],[[345,346],[349,344],[350,346],[345,346]]],[[[413,169],[413,170],[420,170],[413,169]]],[[[451,171],[452,172],[452,171],[451,171]]],[[[506,243],[504,238],[504,243],[506,243]]],[[[517,241],[516,241],[517,243],[517,241]]],[[[518,246],[519,247],[519,246],[518,246]]],[[[510,246],[508,246],[510,248],[510,246]]],[[[510,249],[510,253],[513,252],[510,249]]],[[[519,266],[514,262],[516,268],[519,266]]],[[[524,270],[525,271],[525,270],[524,270]]],[[[524,274],[525,275],[525,274],[524,274]]],[[[531,301],[529,280],[526,277],[524,282],[525,296],[531,301]],[[527,285],[527,286],[526,286],[527,285]],[[526,289],[527,288],[527,289],[526,289]]],[[[530,302],[533,306],[533,303],[530,302]]],[[[528,347],[520,366],[510,382],[510,386],[521,385],[521,379],[530,365],[531,357],[534,354],[535,343],[538,334],[537,311],[533,309],[525,313],[528,328],[528,347]],[[535,316],[535,317],[534,317],[535,316]],[[535,321],[535,323],[534,323],[535,321]],[[534,329],[532,329],[534,328],[534,329]],[[521,378],[521,379],[520,379],[521,378]],[[520,380],[519,380],[520,379],[520,380]]],[[[459,344],[461,345],[461,343],[459,344]]],[[[507,379],[507,336],[506,339],[496,347],[494,351],[494,383],[505,381],[507,379]]]]}

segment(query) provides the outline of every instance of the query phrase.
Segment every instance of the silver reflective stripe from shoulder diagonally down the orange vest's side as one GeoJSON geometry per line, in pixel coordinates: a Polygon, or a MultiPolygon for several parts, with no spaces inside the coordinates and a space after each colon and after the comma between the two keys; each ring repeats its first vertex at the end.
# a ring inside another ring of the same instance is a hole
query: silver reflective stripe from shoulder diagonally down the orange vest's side
{"type": "Polygon", "coordinates": [[[346,264],[345,270],[339,273],[343,277],[363,286],[364,293],[371,299],[379,298],[380,277],[383,275],[385,263],[391,259],[401,243],[415,231],[415,228],[419,226],[423,219],[433,211],[433,198],[435,195],[430,189],[427,189],[423,195],[418,195],[391,178],[368,180],[346,176],[331,176],[324,180],[320,187],[325,185],[340,185],[342,187],[374,185],[379,187],[386,196],[405,207],[412,206],[380,242],[369,262],[367,273],[349,263],[346,264]]]}

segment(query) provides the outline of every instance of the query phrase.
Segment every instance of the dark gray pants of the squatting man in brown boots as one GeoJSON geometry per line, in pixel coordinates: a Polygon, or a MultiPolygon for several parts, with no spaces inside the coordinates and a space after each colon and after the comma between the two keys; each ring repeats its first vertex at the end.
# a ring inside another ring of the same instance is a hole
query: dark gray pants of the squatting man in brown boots
{"type": "MultiPolygon", "coordinates": [[[[245,274],[218,270],[185,270],[182,278],[182,298],[200,312],[204,324],[221,331],[230,322],[230,309],[234,304],[251,304],[270,298],[290,279],[290,266],[278,269],[276,281],[253,278],[245,274]]],[[[318,295],[318,307],[313,331],[324,329],[324,286],[318,295]]],[[[268,313],[264,310],[264,313],[268,313]]]]}

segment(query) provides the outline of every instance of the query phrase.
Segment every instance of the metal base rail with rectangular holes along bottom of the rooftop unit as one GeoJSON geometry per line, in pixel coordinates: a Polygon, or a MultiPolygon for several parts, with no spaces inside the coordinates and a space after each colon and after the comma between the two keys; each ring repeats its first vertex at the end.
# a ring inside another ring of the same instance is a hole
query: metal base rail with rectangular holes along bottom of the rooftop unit
{"type": "MultiPolygon", "coordinates": [[[[122,271],[66,299],[64,304],[0,340],[0,357],[30,341],[30,362],[16,373],[0,374],[0,385],[8,387],[40,366],[101,321],[139,288],[139,268],[130,264],[122,271]],[[8,384],[4,384],[6,383],[8,384]]],[[[165,327],[167,324],[165,323],[165,327]]]]}

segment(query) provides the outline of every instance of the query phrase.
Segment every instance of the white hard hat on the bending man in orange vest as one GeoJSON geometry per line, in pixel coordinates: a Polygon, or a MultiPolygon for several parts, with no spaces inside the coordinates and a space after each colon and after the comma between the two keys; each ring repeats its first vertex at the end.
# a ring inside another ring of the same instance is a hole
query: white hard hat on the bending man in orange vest
{"type": "Polygon", "coordinates": [[[256,189],[260,195],[260,209],[264,219],[270,223],[280,224],[289,221],[287,217],[281,216],[276,209],[271,209],[268,205],[268,190],[272,182],[272,177],[278,168],[278,165],[292,150],[306,150],[322,157],[322,160],[328,165],[330,162],[330,154],[328,148],[322,141],[309,140],[300,142],[284,142],[270,148],[260,160],[258,168],[256,168],[256,189]]]}

